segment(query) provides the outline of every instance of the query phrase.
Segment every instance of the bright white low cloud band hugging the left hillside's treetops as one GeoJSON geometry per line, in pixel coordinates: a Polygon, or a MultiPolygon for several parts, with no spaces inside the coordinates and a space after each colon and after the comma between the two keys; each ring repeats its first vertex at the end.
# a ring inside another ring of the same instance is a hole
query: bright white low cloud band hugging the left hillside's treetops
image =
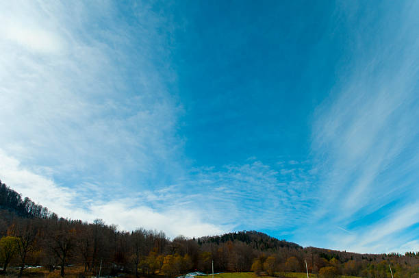
{"type": "Polygon", "coordinates": [[[184,205],[185,196],[176,188],[127,194],[112,190],[112,199],[103,198],[109,188],[82,184],[73,188],[60,186],[47,175],[31,172],[16,160],[0,152],[2,181],[11,184],[23,197],[48,207],[60,217],[92,222],[96,218],[119,229],[132,231],[138,227],[164,231],[170,238],[183,235],[208,236],[230,231],[233,226],[210,223],[203,210],[192,210],[184,205]],[[128,196],[127,196],[128,195],[128,196]],[[91,197],[90,197],[91,196],[91,197]]]}

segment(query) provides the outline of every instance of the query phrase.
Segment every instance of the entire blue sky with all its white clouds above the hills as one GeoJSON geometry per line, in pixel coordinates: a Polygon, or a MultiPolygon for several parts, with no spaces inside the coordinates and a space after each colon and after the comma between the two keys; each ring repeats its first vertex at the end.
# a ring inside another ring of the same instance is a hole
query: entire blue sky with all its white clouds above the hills
{"type": "Polygon", "coordinates": [[[61,216],[419,251],[416,1],[1,1],[0,179],[61,216]]]}

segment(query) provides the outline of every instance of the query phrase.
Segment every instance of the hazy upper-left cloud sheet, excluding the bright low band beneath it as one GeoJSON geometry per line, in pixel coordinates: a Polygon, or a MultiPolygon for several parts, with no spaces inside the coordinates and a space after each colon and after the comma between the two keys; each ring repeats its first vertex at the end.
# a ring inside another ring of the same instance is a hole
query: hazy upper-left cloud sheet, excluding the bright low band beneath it
{"type": "Polygon", "coordinates": [[[3,152],[71,182],[120,184],[129,173],[147,184],[158,183],[158,170],[179,173],[173,155],[182,144],[175,137],[181,108],[167,91],[174,75],[153,60],[167,57],[154,47],[167,43],[156,31],[166,19],[144,6],[134,13],[143,26],[136,29],[117,18],[114,4],[3,5],[3,152]]]}

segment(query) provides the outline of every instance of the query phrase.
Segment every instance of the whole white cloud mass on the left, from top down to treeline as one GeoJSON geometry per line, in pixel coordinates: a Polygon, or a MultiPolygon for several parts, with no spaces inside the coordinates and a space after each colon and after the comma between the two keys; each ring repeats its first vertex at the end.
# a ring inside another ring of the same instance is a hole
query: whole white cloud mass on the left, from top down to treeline
{"type": "Polygon", "coordinates": [[[0,17],[5,184],[63,217],[170,236],[223,231],[137,193],[157,194],[182,175],[164,14],[147,3],[14,1],[0,17]]]}

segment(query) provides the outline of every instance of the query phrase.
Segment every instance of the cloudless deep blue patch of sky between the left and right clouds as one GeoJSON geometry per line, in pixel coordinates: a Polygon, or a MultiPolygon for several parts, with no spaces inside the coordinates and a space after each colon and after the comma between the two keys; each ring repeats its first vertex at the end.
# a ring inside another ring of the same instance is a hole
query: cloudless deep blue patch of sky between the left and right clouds
{"type": "Polygon", "coordinates": [[[346,48],[345,26],[323,38],[334,6],[192,1],[178,9],[173,68],[186,155],[215,166],[251,156],[304,160],[309,118],[346,48]]]}

